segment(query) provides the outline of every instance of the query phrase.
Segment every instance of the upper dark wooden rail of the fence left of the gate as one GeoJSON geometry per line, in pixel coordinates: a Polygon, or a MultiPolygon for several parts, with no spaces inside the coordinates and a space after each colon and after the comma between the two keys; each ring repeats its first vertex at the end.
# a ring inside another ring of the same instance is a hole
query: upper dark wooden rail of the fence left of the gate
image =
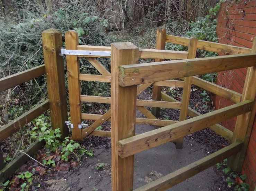
{"type": "Polygon", "coordinates": [[[45,74],[44,64],[0,79],[0,92],[45,74]]]}

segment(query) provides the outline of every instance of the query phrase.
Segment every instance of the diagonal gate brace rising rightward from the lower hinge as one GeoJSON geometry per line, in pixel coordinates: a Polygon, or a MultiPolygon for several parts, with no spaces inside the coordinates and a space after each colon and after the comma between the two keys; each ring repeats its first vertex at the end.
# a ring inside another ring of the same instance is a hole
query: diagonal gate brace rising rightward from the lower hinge
{"type": "MultiPolygon", "coordinates": [[[[147,89],[151,83],[144,83],[141,84],[138,88],[137,88],[137,96],[144,91],[145,89],[147,89]]],[[[96,120],[94,123],[92,123],[88,128],[86,128],[85,130],[82,131],[82,138],[86,137],[87,135],[89,135],[92,131],[94,131],[97,127],[99,127],[99,125],[101,125],[102,123],[104,123],[105,121],[107,121],[109,118],[111,117],[111,109],[108,110],[102,117],[100,117],[98,120],[96,120]]]]}

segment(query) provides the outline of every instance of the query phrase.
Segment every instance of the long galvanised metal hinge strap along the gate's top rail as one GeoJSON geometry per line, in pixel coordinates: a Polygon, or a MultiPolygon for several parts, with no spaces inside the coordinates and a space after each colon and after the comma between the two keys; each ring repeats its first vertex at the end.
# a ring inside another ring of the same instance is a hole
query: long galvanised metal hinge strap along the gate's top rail
{"type": "Polygon", "coordinates": [[[66,50],[66,49],[61,48],[60,56],[64,56],[64,55],[110,57],[111,51],[66,50]]]}

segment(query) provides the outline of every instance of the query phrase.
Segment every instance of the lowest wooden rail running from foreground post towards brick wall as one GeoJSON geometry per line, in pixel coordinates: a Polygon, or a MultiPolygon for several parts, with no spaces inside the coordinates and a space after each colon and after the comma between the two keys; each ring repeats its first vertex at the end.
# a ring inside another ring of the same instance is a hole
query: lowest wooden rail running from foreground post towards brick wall
{"type": "Polygon", "coordinates": [[[176,170],[162,178],[150,182],[134,191],[164,191],[174,185],[193,177],[194,175],[212,167],[214,164],[230,157],[237,153],[242,146],[242,142],[235,142],[231,145],[214,152],[207,157],[204,157],[196,162],[193,162],[186,167],[176,170]]]}

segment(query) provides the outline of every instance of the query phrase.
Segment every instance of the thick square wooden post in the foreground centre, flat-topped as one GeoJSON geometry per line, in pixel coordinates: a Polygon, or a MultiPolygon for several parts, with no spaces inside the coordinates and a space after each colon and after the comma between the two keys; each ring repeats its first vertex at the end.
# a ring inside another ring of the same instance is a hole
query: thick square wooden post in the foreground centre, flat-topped
{"type": "Polygon", "coordinates": [[[135,135],[137,85],[121,87],[118,84],[119,65],[138,63],[139,49],[130,42],[111,44],[111,147],[112,190],[133,190],[134,155],[118,156],[119,140],[135,135]]]}

